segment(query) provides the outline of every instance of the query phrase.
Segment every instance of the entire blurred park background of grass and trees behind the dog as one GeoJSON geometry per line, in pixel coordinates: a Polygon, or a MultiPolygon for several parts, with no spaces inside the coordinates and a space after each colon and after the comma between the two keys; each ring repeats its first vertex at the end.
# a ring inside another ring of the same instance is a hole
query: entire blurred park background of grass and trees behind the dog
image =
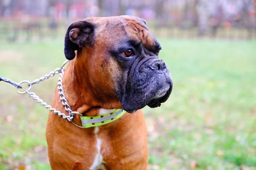
{"type": "MultiPolygon", "coordinates": [[[[143,108],[148,170],[256,170],[256,0],[0,0],[0,75],[42,77],[64,62],[72,21],[123,14],[147,21],[174,81],[143,108]]],[[[32,92],[50,103],[57,79],[32,92]]],[[[50,169],[47,117],[0,82],[0,170],[50,169]]]]}

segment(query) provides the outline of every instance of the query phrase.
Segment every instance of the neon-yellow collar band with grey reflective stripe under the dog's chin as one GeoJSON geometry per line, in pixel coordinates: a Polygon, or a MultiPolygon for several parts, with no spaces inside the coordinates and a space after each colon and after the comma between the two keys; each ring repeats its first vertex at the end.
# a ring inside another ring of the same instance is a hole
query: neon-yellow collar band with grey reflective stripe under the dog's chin
{"type": "Polygon", "coordinates": [[[116,109],[113,113],[99,116],[81,116],[82,128],[101,126],[111,123],[125,114],[125,110],[116,109]]]}

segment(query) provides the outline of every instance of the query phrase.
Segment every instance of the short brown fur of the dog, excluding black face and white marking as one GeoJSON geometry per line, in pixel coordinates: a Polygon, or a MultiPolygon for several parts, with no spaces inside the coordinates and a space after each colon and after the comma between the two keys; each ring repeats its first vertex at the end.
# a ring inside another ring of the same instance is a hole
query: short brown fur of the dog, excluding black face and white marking
{"type": "MultiPolygon", "coordinates": [[[[121,42],[124,31],[115,27],[116,20],[125,25],[128,37],[143,41],[143,45],[154,45],[154,36],[136,17],[87,18],[97,24],[92,46],[80,48],[75,59],[69,62],[63,77],[63,88],[73,111],[87,116],[99,114],[99,108],[122,108],[112,91],[113,80],[120,72],[116,61],[108,57],[106,49],[121,42]],[[115,28],[113,31],[112,29],[115,28]],[[112,40],[108,40],[112,37],[112,40]],[[106,40],[107,39],[107,40],[106,40]]],[[[76,35],[77,36],[77,35],[76,35]]],[[[52,107],[67,113],[55,89],[52,107]]],[[[81,125],[75,115],[74,122],[81,125]]],[[[146,170],[148,162],[147,133],[141,110],[125,113],[118,120],[95,127],[81,129],[67,120],[49,113],[47,143],[52,170],[88,170],[97,153],[96,136],[101,139],[101,155],[106,170],[146,170]]]]}

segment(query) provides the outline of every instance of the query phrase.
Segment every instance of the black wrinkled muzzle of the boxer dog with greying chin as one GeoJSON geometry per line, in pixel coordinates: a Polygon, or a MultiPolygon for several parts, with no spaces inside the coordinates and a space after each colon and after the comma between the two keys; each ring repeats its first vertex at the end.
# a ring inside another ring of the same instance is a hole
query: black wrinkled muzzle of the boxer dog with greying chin
{"type": "Polygon", "coordinates": [[[172,77],[162,59],[145,58],[135,71],[128,75],[125,95],[120,98],[122,107],[129,113],[144,108],[159,107],[172,92],[172,77]]]}

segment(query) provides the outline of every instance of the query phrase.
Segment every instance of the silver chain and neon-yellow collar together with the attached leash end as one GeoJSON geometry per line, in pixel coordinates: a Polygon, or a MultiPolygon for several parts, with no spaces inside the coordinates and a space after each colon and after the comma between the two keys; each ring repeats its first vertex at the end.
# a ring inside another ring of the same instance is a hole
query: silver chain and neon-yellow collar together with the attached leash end
{"type": "Polygon", "coordinates": [[[0,81],[8,82],[16,87],[16,90],[19,94],[29,94],[29,97],[32,97],[33,100],[36,100],[36,102],[40,103],[44,108],[49,109],[49,111],[52,111],[54,114],[57,114],[60,118],[67,119],[69,122],[73,123],[76,127],[79,128],[88,128],[88,127],[95,127],[100,125],[105,125],[107,123],[113,122],[116,119],[119,119],[122,115],[125,114],[125,111],[123,109],[116,109],[114,112],[106,114],[106,115],[100,115],[100,116],[83,116],[77,111],[72,111],[71,106],[68,104],[66,96],[64,94],[64,89],[62,85],[62,78],[64,75],[64,65],[67,64],[69,60],[66,60],[60,68],[56,68],[54,71],[51,71],[49,74],[46,74],[44,77],[40,77],[39,79],[35,79],[32,82],[29,82],[28,80],[23,80],[19,83],[13,82],[10,79],[7,79],[5,77],[0,76],[0,81]],[[65,113],[61,113],[60,111],[57,111],[55,108],[52,108],[52,106],[48,105],[46,102],[44,102],[43,99],[41,99],[39,96],[37,96],[34,92],[31,91],[32,85],[38,84],[39,82],[44,81],[45,79],[49,79],[49,77],[55,76],[55,74],[60,74],[60,77],[58,78],[57,82],[57,89],[58,94],[60,95],[61,103],[64,106],[65,110],[69,113],[66,115],[65,113]],[[20,91],[22,89],[21,84],[26,83],[28,85],[28,88],[25,89],[25,91],[20,91]],[[77,125],[75,122],[73,122],[74,115],[78,114],[81,119],[81,125],[77,125]],[[92,122],[91,122],[92,121],[92,122]]]}

